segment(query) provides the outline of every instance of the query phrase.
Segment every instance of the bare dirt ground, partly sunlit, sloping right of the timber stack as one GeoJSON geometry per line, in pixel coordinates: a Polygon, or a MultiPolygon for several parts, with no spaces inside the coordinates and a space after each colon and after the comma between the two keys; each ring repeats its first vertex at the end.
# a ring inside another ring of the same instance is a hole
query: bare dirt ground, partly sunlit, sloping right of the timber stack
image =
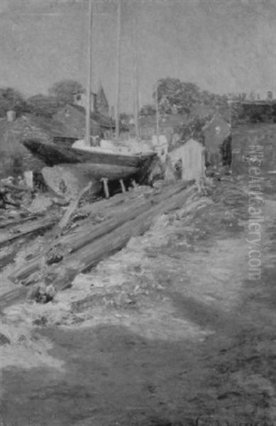
{"type": "Polygon", "coordinates": [[[273,198],[259,280],[248,187],[226,180],[53,302],[6,308],[0,425],[276,425],[273,198]]]}

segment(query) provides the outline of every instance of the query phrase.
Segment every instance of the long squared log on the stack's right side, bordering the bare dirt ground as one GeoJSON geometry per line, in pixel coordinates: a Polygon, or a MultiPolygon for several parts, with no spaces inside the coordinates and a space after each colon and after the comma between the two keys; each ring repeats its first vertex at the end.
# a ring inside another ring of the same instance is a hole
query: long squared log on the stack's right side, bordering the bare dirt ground
{"type": "Polygon", "coordinates": [[[50,268],[48,282],[55,285],[56,290],[63,290],[70,286],[79,272],[85,272],[99,263],[104,257],[110,256],[127,244],[132,236],[138,236],[147,231],[158,214],[164,214],[182,207],[187,198],[196,190],[194,187],[173,195],[148,211],[140,214],[136,219],[118,226],[114,231],[96,239],[92,244],[68,256],[59,266],[50,268]]]}

